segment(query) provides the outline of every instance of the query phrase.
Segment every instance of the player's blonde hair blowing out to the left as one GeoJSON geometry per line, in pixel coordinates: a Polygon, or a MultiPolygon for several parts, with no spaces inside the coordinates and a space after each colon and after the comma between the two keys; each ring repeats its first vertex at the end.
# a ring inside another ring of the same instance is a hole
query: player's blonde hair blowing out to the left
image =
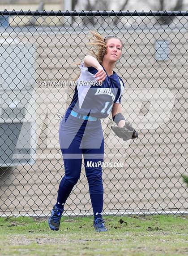
{"type": "MultiPolygon", "coordinates": [[[[97,31],[90,31],[90,33],[92,34],[92,37],[90,37],[90,42],[86,44],[87,45],[91,45],[93,46],[94,49],[90,49],[88,50],[86,55],[92,55],[93,57],[95,57],[98,62],[100,64],[102,64],[103,62],[103,58],[104,56],[107,54],[107,41],[111,38],[117,38],[120,40],[122,48],[123,48],[123,41],[115,36],[115,35],[109,35],[103,38],[103,36],[101,36],[97,31]]],[[[73,63],[76,65],[80,65],[80,63],[73,63]]],[[[78,77],[80,76],[81,71],[79,72],[79,74],[77,75],[77,77],[74,80],[77,80],[78,77]]]]}

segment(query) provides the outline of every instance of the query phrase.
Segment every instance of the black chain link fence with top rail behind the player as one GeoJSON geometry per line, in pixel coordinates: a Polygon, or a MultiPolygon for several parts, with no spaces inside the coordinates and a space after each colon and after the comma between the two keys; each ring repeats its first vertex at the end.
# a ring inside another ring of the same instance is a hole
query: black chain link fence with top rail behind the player
{"type": "MultiPolygon", "coordinates": [[[[64,163],[60,119],[71,102],[90,30],[124,41],[115,66],[124,116],[139,132],[123,142],[102,120],[104,214],[187,212],[188,12],[0,12],[0,215],[49,215],[64,163]]],[[[81,177],[65,206],[92,215],[81,177]]]]}

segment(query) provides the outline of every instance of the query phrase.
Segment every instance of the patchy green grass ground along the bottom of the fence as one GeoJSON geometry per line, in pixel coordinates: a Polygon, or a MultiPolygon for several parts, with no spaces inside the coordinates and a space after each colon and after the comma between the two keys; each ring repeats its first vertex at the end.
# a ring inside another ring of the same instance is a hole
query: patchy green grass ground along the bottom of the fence
{"type": "Polygon", "coordinates": [[[96,233],[92,217],[47,220],[0,218],[1,256],[184,256],[188,216],[105,216],[108,232],[96,233]]]}

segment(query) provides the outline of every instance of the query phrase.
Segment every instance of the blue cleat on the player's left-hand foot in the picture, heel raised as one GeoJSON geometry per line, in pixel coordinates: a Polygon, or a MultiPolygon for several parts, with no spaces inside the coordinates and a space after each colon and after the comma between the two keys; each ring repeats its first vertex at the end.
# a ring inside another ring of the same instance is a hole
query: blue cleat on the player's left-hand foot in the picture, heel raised
{"type": "Polygon", "coordinates": [[[51,210],[51,216],[48,219],[48,224],[51,230],[57,231],[60,229],[60,220],[64,209],[59,209],[56,206],[51,210]]]}

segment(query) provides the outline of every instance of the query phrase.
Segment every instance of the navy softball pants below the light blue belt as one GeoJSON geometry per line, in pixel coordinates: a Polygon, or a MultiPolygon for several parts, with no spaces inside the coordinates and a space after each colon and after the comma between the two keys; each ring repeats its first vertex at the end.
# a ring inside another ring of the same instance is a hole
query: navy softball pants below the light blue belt
{"type": "Polygon", "coordinates": [[[101,121],[73,117],[68,108],[60,122],[59,142],[64,161],[64,177],[60,182],[56,206],[64,208],[66,199],[77,184],[81,174],[83,155],[94,218],[101,217],[104,192],[100,164],[104,157],[101,121]]]}

